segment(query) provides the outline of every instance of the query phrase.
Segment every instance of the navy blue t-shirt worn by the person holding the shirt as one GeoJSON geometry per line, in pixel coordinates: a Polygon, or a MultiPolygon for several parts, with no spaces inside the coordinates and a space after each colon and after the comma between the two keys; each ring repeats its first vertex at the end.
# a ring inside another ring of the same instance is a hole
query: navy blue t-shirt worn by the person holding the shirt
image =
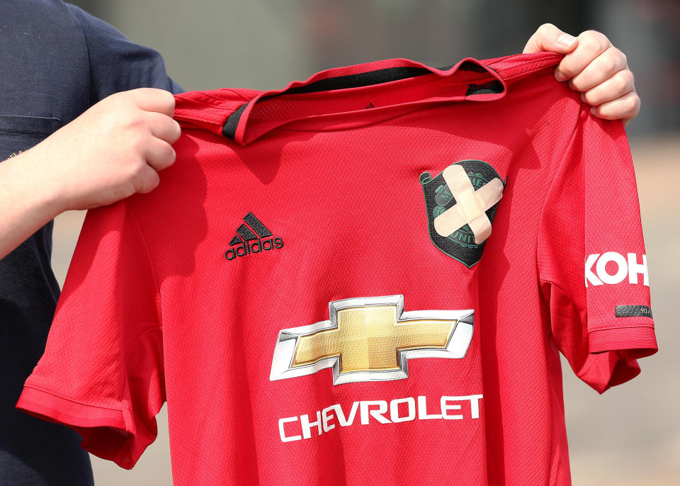
{"type": "MultiPolygon", "coordinates": [[[[0,1],[0,161],[117,91],[181,91],[162,57],[60,0],[0,1]]],[[[49,160],[45,164],[50,164],[49,160]]],[[[0,485],[92,485],[74,431],[14,408],[45,349],[59,286],[52,222],[0,260],[0,485]]]]}

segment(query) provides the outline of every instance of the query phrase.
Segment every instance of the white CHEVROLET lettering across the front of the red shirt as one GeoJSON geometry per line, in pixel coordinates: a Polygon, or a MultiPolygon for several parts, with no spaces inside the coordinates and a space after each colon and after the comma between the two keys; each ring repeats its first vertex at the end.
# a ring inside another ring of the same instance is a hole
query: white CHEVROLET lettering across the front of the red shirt
{"type": "MultiPolygon", "coordinates": [[[[314,422],[310,422],[310,416],[307,414],[279,419],[278,432],[282,442],[311,439],[312,429],[314,428],[317,431],[317,434],[314,435],[319,436],[336,429],[336,424],[331,423],[335,419],[337,419],[337,425],[340,427],[351,426],[357,412],[361,417],[359,421],[361,425],[399,424],[401,422],[412,422],[416,419],[479,419],[480,400],[482,400],[482,395],[444,396],[439,400],[439,408],[436,411],[441,413],[438,414],[428,413],[427,398],[424,396],[397,398],[389,403],[386,400],[361,400],[352,403],[347,416],[341,405],[336,404],[315,412],[316,420],[314,422]],[[385,417],[387,414],[389,414],[389,419],[385,417]],[[299,422],[299,424],[295,424],[295,422],[299,422]],[[285,424],[289,425],[285,426],[285,424]]],[[[431,412],[433,411],[431,410],[431,412]]]]}

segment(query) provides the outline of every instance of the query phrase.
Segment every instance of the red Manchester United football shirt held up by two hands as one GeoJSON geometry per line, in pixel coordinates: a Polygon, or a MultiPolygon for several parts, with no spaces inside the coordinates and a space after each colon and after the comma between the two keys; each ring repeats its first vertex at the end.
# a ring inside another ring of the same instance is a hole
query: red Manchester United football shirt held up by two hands
{"type": "Polygon", "coordinates": [[[569,484],[560,351],[657,349],[621,123],[560,57],[177,96],[159,188],[86,217],[18,407],[176,485],[569,484]]]}

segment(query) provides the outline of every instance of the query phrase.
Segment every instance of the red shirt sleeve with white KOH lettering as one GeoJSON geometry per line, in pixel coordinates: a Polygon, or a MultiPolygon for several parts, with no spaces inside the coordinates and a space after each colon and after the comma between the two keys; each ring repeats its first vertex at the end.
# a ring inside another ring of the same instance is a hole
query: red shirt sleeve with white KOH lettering
{"type": "Polygon", "coordinates": [[[538,274],[552,336],[604,392],[657,351],[633,160],[621,122],[583,106],[543,206],[538,274]]]}

